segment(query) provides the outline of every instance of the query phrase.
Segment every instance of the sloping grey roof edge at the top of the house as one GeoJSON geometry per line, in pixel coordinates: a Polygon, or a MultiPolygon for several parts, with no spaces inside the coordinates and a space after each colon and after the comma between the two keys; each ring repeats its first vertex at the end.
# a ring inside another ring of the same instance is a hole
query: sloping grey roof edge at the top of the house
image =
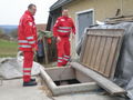
{"type": "Polygon", "coordinates": [[[54,4],[52,4],[50,7],[50,11],[55,10],[55,9],[62,7],[62,6],[64,6],[64,4],[66,4],[66,3],[71,2],[71,1],[73,1],[73,0],[58,0],[54,4]]]}

